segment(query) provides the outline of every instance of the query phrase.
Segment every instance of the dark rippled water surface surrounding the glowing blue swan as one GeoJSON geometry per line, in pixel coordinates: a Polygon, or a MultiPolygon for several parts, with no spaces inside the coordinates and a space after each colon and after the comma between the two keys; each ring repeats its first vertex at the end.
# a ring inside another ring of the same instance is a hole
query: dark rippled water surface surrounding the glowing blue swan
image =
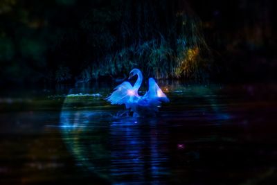
{"type": "Polygon", "coordinates": [[[0,184],[277,184],[277,85],[161,87],[155,118],[100,85],[1,95],[0,184]]]}

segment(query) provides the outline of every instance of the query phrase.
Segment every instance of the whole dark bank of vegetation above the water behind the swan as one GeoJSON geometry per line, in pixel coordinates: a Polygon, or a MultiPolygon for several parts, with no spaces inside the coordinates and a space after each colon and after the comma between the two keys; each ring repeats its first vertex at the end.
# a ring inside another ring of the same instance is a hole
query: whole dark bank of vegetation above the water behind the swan
{"type": "Polygon", "coordinates": [[[0,0],[0,84],[274,79],[276,1],[0,0]]]}

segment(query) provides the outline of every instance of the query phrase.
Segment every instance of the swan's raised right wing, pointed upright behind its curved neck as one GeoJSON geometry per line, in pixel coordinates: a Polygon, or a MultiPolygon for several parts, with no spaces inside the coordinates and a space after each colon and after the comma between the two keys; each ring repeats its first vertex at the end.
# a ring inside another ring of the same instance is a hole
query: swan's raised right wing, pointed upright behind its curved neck
{"type": "Polygon", "coordinates": [[[169,99],[163,93],[159,85],[155,82],[154,78],[149,78],[149,89],[143,96],[143,99],[148,100],[152,105],[161,105],[161,102],[168,103],[169,99]]]}

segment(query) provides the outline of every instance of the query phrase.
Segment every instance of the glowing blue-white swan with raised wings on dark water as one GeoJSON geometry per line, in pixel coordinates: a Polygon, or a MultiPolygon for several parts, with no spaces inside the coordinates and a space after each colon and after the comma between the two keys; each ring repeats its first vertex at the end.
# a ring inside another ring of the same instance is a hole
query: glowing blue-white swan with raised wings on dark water
{"type": "Polygon", "coordinates": [[[141,83],[143,82],[143,75],[139,69],[132,69],[129,73],[129,78],[138,76],[134,86],[129,82],[123,82],[114,88],[114,91],[106,98],[111,105],[123,105],[133,113],[133,116],[154,116],[158,112],[158,107],[161,103],[168,103],[169,99],[166,94],[160,89],[154,78],[148,80],[148,91],[140,96],[138,94],[141,83]]]}

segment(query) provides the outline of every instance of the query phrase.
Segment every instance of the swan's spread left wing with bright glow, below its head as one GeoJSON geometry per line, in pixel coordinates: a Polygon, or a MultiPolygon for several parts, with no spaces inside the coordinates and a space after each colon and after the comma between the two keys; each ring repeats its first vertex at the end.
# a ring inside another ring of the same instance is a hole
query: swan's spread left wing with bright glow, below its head
{"type": "Polygon", "coordinates": [[[132,85],[129,82],[123,82],[114,88],[114,91],[109,97],[106,98],[106,100],[108,100],[112,105],[125,104],[126,108],[128,109],[134,100],[134,97],[136,97],[136,93],[133,90],[132,85]]]}

